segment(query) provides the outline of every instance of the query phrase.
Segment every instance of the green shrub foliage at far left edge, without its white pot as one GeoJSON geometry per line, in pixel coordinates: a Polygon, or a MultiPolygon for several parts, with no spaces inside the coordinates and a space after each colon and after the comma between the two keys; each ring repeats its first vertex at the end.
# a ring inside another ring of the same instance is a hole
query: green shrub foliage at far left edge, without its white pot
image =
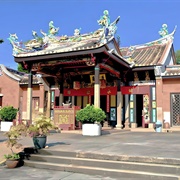
{"type": "Polygon", "coordinates": [[[13,106],[5,106],[0,109],[0,119],[3,121],[13,121],[13,119],[16,119],[17,112],[18,109],[13,106]]]}

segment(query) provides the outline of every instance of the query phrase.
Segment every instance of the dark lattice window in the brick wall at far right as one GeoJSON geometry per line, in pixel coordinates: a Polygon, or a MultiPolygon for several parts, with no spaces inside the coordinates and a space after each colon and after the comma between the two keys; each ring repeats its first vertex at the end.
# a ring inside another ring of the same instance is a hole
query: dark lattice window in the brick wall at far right
{"type": "Polygon", "coordinates": [[[180,126],[180,94],[171,94],[172,126],[180,126]]]}

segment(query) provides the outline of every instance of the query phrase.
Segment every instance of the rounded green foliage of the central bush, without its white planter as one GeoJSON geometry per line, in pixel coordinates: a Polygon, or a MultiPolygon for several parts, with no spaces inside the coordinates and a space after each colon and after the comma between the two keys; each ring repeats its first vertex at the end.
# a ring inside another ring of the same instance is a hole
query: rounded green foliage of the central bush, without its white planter
{"type": "Polygon", "coordinates": [[[77,111],[76,120],[84,123],[100,123],[106,118],[105,112],[101,108],[87,104],[85,108],[77,111]]]}

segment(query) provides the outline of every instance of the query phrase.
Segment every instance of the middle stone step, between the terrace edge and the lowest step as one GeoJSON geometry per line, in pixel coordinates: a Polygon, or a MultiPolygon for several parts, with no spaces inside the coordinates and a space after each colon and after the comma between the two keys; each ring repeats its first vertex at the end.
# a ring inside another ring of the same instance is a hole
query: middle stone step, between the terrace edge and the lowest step
{"type": "Polygon", "coordinates": [[[155,163],[113,161],[89,159],[80,157],[65,157],[53,155],[31,155],[31,161],[50,162],[54,164],[71,164],[74,166],[98,167],[107,169],[121,169],[148,173],[174,174],[180,176],[179,165],[165,165],[155,163]]]}

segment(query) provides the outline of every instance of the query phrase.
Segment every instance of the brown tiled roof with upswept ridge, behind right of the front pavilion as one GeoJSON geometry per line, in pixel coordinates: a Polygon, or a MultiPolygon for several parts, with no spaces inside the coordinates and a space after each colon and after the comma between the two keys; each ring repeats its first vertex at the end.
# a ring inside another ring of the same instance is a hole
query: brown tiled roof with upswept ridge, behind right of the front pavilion
{"type": "Polygon", "coordinates": [[[172,46],[175,30],[176,28],[171,34],[165,34],[156,41],[121,48],[122,56],[129,62],[134,62],[135,66],[161,65],[172,46]]]}

